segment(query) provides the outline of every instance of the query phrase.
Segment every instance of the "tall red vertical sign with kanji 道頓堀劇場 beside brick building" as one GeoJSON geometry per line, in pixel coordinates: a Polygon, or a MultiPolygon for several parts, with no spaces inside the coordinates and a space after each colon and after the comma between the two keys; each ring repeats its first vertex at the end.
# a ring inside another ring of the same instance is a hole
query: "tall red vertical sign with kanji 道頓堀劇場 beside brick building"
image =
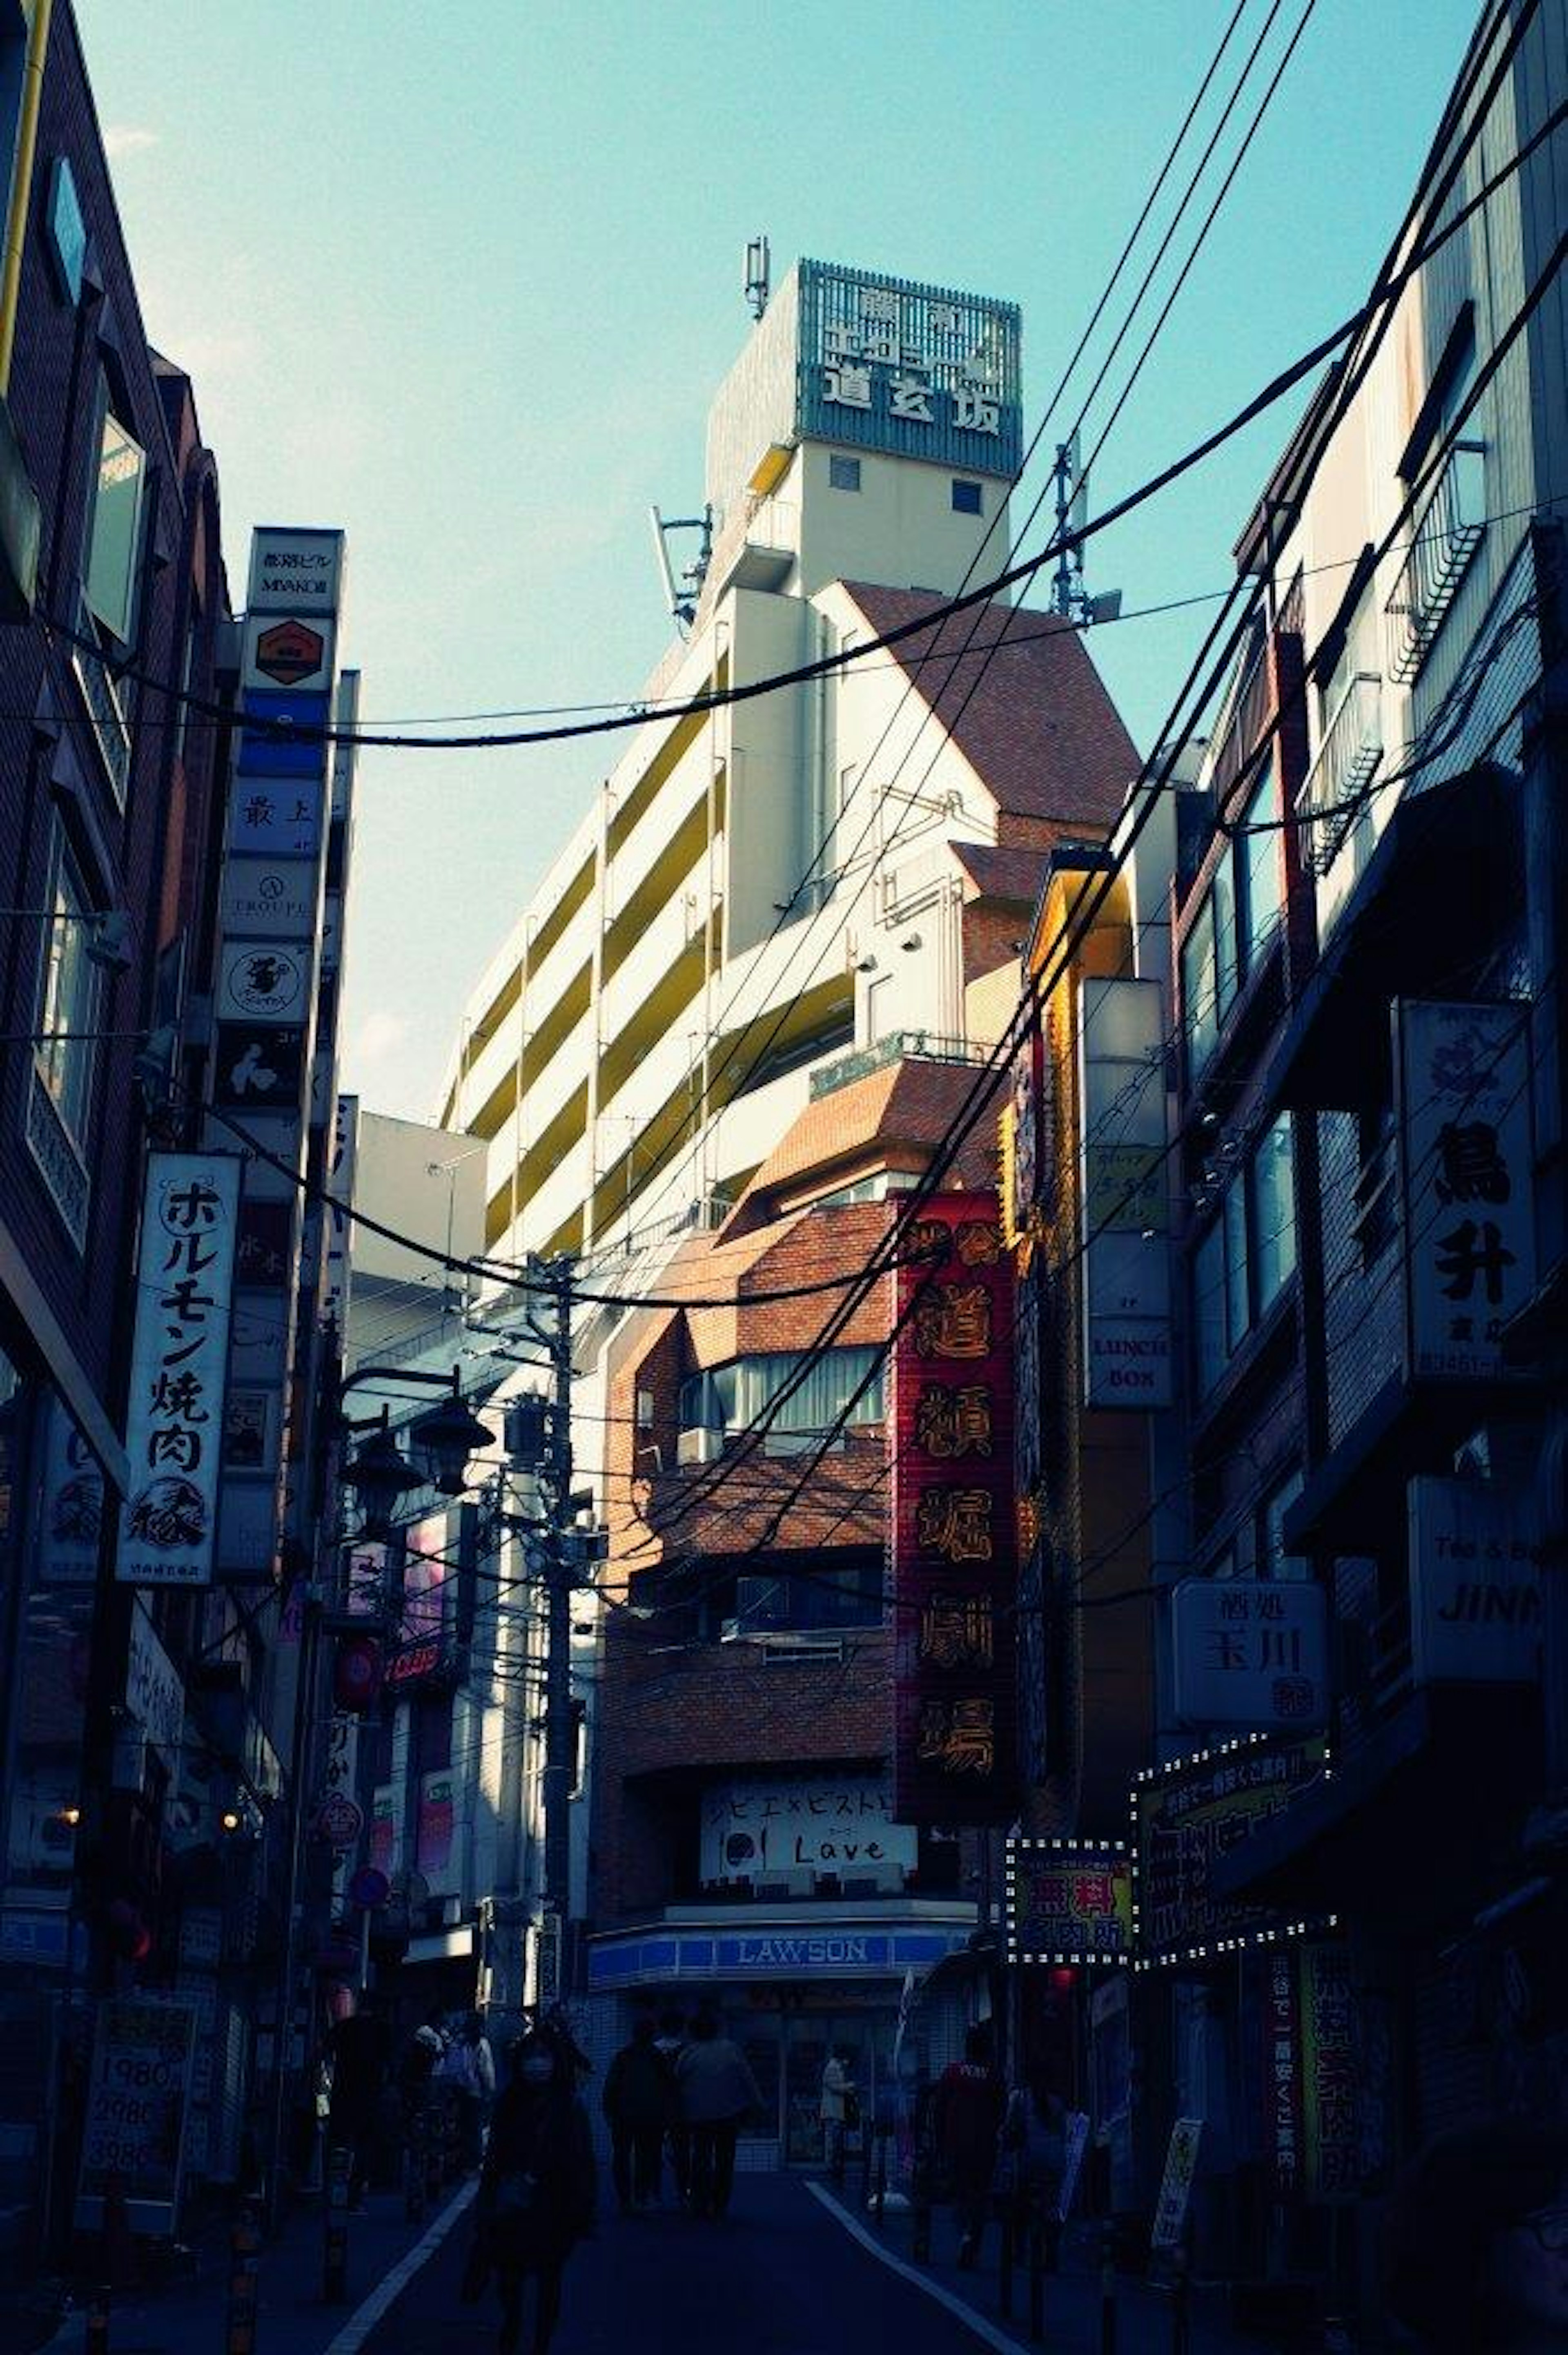
{"type": "Polygon", "coordinates": [[[996,1194],[911,1222],[892,1342],[895,1816],[1017,1816],[1012,1265],[996,1194]]]}

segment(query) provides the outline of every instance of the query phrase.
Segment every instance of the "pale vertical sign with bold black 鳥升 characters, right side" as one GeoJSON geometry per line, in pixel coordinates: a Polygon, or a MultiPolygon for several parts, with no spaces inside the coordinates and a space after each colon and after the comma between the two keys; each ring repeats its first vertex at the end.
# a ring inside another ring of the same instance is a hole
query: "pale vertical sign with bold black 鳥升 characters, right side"
{"type": "Polygon", "coordinates": [[[1406,1364],[1507,1373],[1502,1328],[1535,1291],[1530,1034],[1519,1003],[1394,1006],[1406,1364]]]}

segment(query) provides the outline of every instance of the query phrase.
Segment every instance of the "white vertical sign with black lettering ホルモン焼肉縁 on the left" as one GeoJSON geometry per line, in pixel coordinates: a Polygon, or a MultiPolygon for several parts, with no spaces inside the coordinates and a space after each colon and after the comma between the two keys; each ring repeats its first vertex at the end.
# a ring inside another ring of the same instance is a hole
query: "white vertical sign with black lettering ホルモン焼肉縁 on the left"
{"type": "Polygon", "coordinates": [[[233,1154],[148,1156],[115,1564],[125,1585],[212,1583],[238,1199],[233,1154]]]}

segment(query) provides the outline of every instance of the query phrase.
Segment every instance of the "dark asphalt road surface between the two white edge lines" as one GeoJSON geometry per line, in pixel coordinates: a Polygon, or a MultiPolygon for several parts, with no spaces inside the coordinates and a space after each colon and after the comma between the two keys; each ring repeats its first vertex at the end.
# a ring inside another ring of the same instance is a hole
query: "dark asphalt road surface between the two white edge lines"
{"type": "MultiPolygon", "coordinates": [[[[466,2247],[464,2218],[372,2327],[365,2355],[492,2355],[494,2296],[457,2301],[466,2247]]],[[[596,2240],[567,2266],[551,2355],[968,2355],[982,2346],[949,2308],[862,2249],[796,2176],[739,2176],[723,2223],[600,2216],[596,2240]]]]}

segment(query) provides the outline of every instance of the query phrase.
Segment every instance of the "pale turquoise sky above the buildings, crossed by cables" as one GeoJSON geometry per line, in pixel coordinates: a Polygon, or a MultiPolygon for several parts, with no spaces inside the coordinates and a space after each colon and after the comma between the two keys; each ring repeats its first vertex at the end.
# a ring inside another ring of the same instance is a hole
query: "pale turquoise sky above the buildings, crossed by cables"
{"type": "MultiPolygon", "coordinates": [[[[1231,7],[78,0],[148,334],[219,455],[235,593],[254,523],[341,523],[367,718],[636,695],[666,643],[647,504],[702,497],[746,238],[768,231],[775,276],[810,252],[1019,301],[1034,429],[1231,7]]],[[[1267,9],[1248,0],[1231,59],[1267,9]]],[[[1474,0],[1318,0],[1095,504],[1354,309],[1471,19],[1474,0]]],[[[1293,419],[1111,530],[1090,586],[1128,608],[1222,589],[1293,419]]],[[[1092,636],[1140,749],[1201,626],[1092,636]]],[[[612,756],[363,756],[365,1102],[436,1109],[464,994],[612,756]]]]}

